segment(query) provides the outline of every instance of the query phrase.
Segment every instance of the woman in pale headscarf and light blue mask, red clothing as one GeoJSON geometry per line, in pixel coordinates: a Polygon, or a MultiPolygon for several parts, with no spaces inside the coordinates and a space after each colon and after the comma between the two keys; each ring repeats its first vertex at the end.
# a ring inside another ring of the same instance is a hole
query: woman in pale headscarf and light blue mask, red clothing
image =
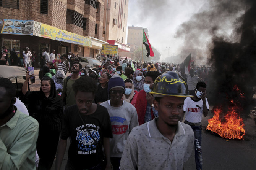
{"type": "Polygon", "coordinates": [[[133,81],[131,81],[131,79],[125,79],[125,94],[123,94],[123,100],[134,106],[138,93],[139,92],[134,90],[133,81]]]}

